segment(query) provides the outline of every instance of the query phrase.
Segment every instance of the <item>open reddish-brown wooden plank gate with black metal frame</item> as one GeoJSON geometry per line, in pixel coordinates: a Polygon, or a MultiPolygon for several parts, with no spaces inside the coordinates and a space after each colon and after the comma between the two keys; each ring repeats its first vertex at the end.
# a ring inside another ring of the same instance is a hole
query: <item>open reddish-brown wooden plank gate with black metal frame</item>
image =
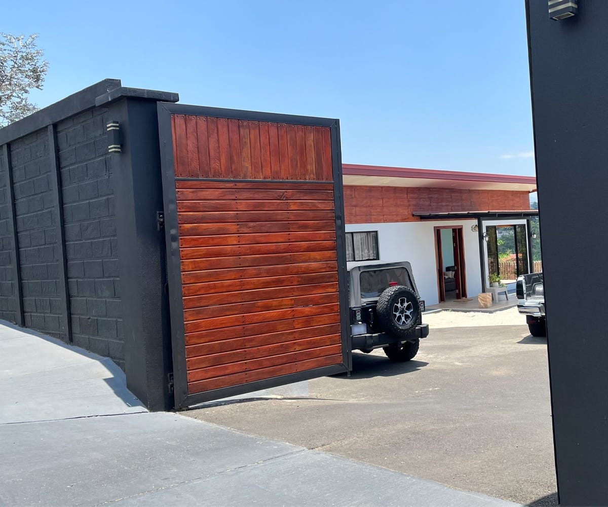
{"type": "Polygon", "coordinates": [[[338,121],[158,112],[176,408],[350,369],[338,121]]]}

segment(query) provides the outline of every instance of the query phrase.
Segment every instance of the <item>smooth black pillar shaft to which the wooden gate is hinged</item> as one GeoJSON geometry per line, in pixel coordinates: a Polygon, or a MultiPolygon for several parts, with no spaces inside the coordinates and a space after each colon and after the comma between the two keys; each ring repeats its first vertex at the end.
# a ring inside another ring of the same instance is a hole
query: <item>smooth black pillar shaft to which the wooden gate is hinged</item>
{"type": "Polygon", "coordinates": [[[128,99],[112,104],[123,136],[111,156],[120,245],[127,387],[150,410],[173,408],[173,371],[165,292],[165,234],[159,229],[162,182],[156,102],[128,99]]]}

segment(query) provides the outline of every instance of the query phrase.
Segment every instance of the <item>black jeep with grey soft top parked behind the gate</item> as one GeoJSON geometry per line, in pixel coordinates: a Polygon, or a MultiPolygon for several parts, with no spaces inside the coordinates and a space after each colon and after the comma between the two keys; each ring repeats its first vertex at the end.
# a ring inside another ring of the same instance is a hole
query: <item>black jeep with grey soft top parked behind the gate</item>
{"type": "Polygon", "coordinates": [[[424,301],[409,262],[348,262],[352,350],[368,354],[382,347],[393,361],[409,361],[420,338],[424,301]]]}

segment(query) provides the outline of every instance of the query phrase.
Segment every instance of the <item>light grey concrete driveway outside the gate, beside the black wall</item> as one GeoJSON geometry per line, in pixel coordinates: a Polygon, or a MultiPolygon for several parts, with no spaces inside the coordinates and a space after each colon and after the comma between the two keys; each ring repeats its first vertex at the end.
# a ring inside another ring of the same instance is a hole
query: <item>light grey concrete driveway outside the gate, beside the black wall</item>
{"type": "Polygon", "coordinates": [[[108,358],[4,321],[0,358],[0,506],[516,505],[148,413],[108,358]]]}

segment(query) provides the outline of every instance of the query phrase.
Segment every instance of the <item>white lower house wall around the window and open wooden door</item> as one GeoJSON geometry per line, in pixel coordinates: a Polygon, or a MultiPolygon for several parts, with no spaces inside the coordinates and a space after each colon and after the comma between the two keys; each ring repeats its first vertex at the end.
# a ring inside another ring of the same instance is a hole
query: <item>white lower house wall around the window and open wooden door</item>
{"type": "Polygon", "coordinates": [[[463,226],[467,295],[469,298],[477,297],[482,292],[479,236],[471,230],[471,226],[476,224],[477,220],[361,223],[347,224],[346,232],[378,231],[380,259],[410,262],[418,292],[430,305],[439,302],[434,233],[438,226],[463,226]]]}

